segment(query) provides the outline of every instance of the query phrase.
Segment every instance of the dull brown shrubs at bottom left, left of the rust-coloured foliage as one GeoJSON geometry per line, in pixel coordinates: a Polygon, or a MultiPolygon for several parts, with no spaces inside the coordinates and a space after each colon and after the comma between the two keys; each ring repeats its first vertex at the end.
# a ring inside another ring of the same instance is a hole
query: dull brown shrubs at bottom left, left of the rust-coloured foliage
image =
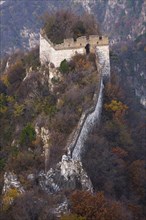
{"type": "Polygon", "coordinates": [[[2,220],[57,220],[52,210],[58,200],[61,199],[56,195],[48,196],[35,187],[16,197],[11,208],[1,212],[0,217],[2,220]]]}

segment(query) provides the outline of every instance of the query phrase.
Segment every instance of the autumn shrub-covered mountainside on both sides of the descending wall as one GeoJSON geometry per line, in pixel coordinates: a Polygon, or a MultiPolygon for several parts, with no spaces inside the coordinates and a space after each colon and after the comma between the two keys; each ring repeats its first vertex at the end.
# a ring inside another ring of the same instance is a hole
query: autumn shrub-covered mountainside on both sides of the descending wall
{"type": "MultiPolygon", "coordinates": [[[[65,184],[59,192],[47,194],[40,187],[46,141],[51,146],[48,166],[53,167],[82,111],[91,106],[99,78],[92,54],[75,56],[59,70],[41,67],[38,55],[37,49],[13,55],[1,76],[1,219],[144,220],[145,110],[132,88],[121,85],[116,69],[105,85],[100,125],[90,133],[82,158],[94,194],[81,191],[78,179],[75,188],[65,184]],[[67,212],[66,200],[70,212],[58,217],[59,204],[67,212]]],[[[118,59],[111,54],[111,66],[118,59]]],[[[56,183],[62,184],[57,175],[56,183]]]]}

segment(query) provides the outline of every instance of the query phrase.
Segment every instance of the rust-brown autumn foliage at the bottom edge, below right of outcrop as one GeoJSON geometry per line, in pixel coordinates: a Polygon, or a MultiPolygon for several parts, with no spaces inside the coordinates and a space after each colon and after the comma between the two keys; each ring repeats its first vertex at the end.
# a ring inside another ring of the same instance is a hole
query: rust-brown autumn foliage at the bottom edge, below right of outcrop
{"type": "Polygon", "coordinates": [[[130,217],[122,203],[106,199],[103,192],[75,191],[71,196],[71,212],[86,220],[128,220],[130,217]]]}

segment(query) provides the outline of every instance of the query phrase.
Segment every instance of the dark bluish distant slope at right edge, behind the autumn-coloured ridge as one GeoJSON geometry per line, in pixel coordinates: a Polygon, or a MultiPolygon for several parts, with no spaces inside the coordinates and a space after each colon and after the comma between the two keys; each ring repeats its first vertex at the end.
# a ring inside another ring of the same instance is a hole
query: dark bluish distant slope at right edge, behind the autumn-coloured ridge
{"type": "Polygon", "coordinates": [[[112,69],[120,76],[122,84],[132,88],[133,93],[146,108],[146,34],[140,35],[133,42],[116,45],[111,56],[112,69]]]}

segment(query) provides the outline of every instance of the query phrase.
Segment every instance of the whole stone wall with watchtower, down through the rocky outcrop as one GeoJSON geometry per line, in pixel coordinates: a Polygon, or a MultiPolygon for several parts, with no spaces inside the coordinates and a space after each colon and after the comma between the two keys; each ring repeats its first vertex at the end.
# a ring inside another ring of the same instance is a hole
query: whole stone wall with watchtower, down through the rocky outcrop
{"type": "Polygon", "coordinates": [[[110,78],[109,41],[107,37],[89,36],[73,39],[64,39],[59,45],[54,45],[45,35],[40,34],[40,61],[41,64],[53,63],[59,67],[64,59],[70,60],[76,53],[85,54],[86,45],[90,45],[90,52],[95,53],[97,77],[99,82],[93,97],[92,106],[82,113],[78,125],[70,135],[66,155],[62,156],[54,169],[40,173],[41,188],[53,193],[62,189],[76,189],[77,182],[83,190],[93,191],[92,183],[82,166],[82,154],[85,151],[85,141],[96,123],[100,122],[102,112],[102,97],[104,80],[110,78]],[[77,182],[76,182],[77,181],[77,182]]]}

